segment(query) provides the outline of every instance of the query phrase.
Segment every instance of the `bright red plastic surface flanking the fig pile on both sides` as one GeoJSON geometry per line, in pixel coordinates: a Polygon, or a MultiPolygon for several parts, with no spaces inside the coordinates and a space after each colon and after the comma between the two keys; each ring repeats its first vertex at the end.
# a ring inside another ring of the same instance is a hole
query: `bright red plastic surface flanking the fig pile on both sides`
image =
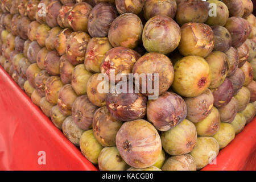
{"type": "MultiPolygon", "coordinates": [[[[0,170],[96,170],[1,66],[0,118],[0,170]]],[[[203,170],[256,170],[256,119],[203,170]]]]}

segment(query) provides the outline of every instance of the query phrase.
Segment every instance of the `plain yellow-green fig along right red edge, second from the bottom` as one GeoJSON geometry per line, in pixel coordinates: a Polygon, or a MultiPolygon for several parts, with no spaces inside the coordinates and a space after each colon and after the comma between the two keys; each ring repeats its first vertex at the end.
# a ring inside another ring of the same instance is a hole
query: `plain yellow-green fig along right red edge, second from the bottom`
{"type": "Polygon", "coordinates": [[[220,130],[213,135],[220,145],[220,149],[226,147],[235,137],[236,133],[230,123],[221,123],[220,130]]]}

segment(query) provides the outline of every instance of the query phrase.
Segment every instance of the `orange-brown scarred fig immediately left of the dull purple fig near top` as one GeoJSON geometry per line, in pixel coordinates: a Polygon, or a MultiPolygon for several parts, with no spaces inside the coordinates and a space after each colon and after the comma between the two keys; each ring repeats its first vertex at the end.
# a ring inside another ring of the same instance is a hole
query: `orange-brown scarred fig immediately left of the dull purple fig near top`
{"type": "Polygon", "coordinates": [[[77,3],[68,13],[68,23],[73,31],[88,32],[88,19],[92,6],[86,2],[77,3]]]}

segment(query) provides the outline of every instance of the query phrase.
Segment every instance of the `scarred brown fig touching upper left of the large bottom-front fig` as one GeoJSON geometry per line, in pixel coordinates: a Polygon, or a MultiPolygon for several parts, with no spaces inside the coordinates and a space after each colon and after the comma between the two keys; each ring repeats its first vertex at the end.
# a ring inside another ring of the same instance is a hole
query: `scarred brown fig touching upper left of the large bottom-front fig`
{"type": "Polygon", "coordinates": [[[94,137],[104,147],[115,146],[115,137],[122,122],[115,119],[107,107],[100,107],[94,113],[92,127],[94,137]]]}

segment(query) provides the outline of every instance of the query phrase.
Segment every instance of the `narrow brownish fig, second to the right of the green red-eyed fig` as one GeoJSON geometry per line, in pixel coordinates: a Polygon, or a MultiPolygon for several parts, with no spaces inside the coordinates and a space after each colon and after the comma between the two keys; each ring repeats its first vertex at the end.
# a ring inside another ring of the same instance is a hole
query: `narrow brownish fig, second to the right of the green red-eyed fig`
{"type": "Polygon", "coordinates": [[[225,52],[227,60],[229,63],[229,71],[227,76],[232,76],[237,71],[238,68],[238,52],[234,47],[230,47],[228,51],[225,52]]]}

